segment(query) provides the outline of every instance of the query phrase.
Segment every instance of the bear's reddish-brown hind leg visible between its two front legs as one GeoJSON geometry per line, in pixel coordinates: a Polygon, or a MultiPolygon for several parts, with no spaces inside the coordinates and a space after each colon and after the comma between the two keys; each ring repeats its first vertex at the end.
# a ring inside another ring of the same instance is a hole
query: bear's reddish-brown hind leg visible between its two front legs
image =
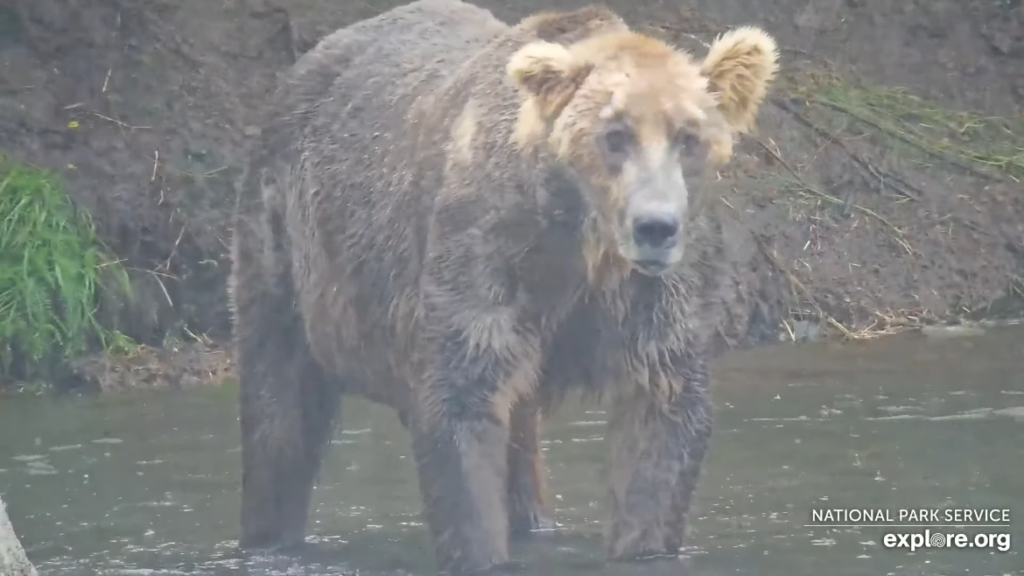
{"type": "Polygon", "coordinates": [[[541,409],[523,400],[512,409],[508,450],[509,530],[514,537],[549,530],[555,523],[545,516],[546,470],[541,451],[541,409]]]}

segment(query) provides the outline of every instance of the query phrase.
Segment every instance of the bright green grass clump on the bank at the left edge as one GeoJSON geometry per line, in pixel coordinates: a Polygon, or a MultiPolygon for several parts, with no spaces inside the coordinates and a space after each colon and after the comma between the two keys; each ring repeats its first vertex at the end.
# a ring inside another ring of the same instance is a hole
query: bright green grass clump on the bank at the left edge
{"type": "Polygon", "coordinates": [[[20,360],[20,377],[45,377],[49,360],[130,347],[97,318],[104,288],[131,294],[89,215],[55,174],[0,156],[0,371],[20,360]]]}

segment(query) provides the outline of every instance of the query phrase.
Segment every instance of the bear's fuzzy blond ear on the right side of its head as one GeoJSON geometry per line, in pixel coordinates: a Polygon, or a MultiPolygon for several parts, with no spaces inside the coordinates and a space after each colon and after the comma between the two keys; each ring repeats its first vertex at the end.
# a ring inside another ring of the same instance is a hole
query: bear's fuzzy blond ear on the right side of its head
{"type": "Polygon", "coordinates": [[[731,30],[712,43],[700,65],[709,91],[736,132],[750,132],[768,85],[778,72],[778,47],[755,27],[731,30]]]}

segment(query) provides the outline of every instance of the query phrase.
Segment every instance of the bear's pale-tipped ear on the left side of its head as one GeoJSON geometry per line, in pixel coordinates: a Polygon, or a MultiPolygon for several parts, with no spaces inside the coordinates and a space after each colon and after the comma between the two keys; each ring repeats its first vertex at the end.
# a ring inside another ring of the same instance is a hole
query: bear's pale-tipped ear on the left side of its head
{"type": "Polygon", "coordinates": [[[509,58],[509,80],[550,121],[572,99],[592,66],[578,61],[568,48],[553,42],[531,42],[509,58]]]}

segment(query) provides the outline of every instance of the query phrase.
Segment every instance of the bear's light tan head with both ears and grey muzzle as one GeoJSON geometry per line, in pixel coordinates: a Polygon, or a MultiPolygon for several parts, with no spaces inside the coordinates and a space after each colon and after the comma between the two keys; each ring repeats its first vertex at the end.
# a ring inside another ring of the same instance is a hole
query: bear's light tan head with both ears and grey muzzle
{"type": "MultiPolygon", "coordinates": [[[[507,74],[522,96],[515,143],[547,147],[575,175],[596,238],[613,258],[662,275],[680,262],[699,212],[699,175],[754,126],[778,52],[764,31],[719,37],[703,61],[630,31],[571,45],[535,41],[507,74]]],[[[592,271],[593,272],[593,271],[592,271]]]]}

